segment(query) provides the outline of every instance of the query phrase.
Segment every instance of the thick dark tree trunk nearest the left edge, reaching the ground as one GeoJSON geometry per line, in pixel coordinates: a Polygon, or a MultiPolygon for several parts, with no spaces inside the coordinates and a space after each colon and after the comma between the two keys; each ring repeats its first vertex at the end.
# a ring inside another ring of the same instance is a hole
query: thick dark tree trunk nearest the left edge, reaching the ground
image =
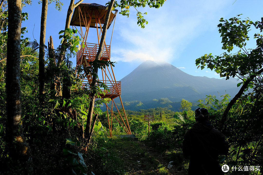
{"type": "Polygon", "coordinates": [[[32,152],[24,135],[21,118],[20,91],[21,0],[8,1],[8,36],[6,64],[6,112],[9,156],[33,173],[32,152]]]}

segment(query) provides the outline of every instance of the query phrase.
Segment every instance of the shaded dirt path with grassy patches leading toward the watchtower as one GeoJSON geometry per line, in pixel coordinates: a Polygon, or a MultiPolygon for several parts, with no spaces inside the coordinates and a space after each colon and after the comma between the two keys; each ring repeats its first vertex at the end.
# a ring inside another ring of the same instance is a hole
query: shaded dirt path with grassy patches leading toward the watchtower
{"type": "Polygon", "coordinates": [[[128,175],[185,175],[175,166],[168,168],[171,160],[149,147],[145,142],[130,142],[129,146],[118,143],[115,152],[124,163],[124,170],[128,175]],[[117,148],[117,150],[116,150],[117,148]]]}

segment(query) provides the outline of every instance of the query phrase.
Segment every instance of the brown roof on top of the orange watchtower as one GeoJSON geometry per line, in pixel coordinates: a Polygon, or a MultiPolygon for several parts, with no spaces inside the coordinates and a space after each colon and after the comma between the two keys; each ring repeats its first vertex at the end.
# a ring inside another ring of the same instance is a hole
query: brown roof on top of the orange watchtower
{"type": "MultiPolygon", "coordinates": [[[[91,18],[90,27],[97,28],[97,24],[99,23],[103,27],[103,24],[106,18],[106,14],[107,14],[106,8],[107,8],[106,6],[96,4],[96,3],[80,3],[78,7],[74,9],[74,13],[72,15],[70,25],[87,26],[87,24],[85,25],[85,23],[89,21],[89,18],[91,18]]],[[[110,13],[108,28],[110,24],[112,23],[115,17],[115,14],[118,12],[117,9],[113,11],[115,11],[115,13],[113,12],[110,13]]]]}

